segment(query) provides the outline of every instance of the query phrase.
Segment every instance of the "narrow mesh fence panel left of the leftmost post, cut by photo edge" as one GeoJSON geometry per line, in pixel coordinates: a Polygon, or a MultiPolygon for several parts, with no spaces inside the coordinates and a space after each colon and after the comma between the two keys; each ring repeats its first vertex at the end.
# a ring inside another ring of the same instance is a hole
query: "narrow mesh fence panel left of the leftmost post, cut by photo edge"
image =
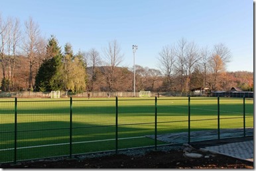
{"type": "Polygon", "coordinates": [[[15,102],[0,101],[0,162],[14,158],[15,102]]]}

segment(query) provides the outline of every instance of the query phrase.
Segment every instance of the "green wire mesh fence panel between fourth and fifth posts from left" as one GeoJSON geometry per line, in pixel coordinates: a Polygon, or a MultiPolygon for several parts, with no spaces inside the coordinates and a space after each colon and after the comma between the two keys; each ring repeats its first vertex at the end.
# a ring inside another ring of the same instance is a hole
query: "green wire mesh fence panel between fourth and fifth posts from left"
{"type": "Polygon", "coordinates": [[[187,143],[184,136],[176,136],[184,132],[188,132],[188,98],[158,98],[158,139],[162,143],[187,143]]]}

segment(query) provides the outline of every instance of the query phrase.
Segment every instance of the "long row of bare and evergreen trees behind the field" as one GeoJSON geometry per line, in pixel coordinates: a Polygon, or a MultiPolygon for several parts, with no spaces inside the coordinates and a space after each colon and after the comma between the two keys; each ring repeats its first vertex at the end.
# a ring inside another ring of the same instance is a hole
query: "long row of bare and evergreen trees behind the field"
{"type": "MultiPolygon", "coordinates": [[[[54,36],[43,38],[32,18],[22,26],[17,18],[1,16],[0,38],[3,91],[133,91],[133,68],[120,67],[123,53],[117,40],[101,53],[91,48],[74,54],[70,43],[62,51],[54,36]]],[[[230,60],[224,44],[200,48],[182,38],[159,51],[159,69],[136,65],[136,91],[188,92],[200,86],[253,90],[253,73],[227,72],[230,60]]]]}

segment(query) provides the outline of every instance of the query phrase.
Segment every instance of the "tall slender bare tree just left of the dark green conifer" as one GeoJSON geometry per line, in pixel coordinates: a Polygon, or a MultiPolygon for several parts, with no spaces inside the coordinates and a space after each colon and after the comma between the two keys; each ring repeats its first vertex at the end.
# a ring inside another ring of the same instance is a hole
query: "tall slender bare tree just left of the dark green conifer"
{"type": "Polygon", "coordinates": [[[25,21],[25,40],[23,50],[29,59],[29,90],[32,87],[33,70],[32,67],[36,63],[36,50],[38,48],[38,39],[40,38],[40,30],[38,24],[32,20],[25,21]]]}

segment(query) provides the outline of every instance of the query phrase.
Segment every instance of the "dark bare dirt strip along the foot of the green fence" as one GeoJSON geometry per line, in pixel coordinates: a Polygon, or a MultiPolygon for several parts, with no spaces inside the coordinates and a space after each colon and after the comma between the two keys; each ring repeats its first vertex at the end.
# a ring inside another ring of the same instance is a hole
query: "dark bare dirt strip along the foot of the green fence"
{"type": "MultiPolygon", "coordinates": [[[[247,160],[200,151],[200,147],[206,144],[192,145],[189,146],[192,147],[190,149],[182,147],[170,151],[149,151],[141,155],[111,154],[94,158],[31,160],[17,164],[0,164],[0,168],[254,168],[253,162],[247,160]],[[186,156],[185,153],[202,156],[194,158],[186,156]]],[[[209,144],[213,145],[214,142],[209,144]]]]}

